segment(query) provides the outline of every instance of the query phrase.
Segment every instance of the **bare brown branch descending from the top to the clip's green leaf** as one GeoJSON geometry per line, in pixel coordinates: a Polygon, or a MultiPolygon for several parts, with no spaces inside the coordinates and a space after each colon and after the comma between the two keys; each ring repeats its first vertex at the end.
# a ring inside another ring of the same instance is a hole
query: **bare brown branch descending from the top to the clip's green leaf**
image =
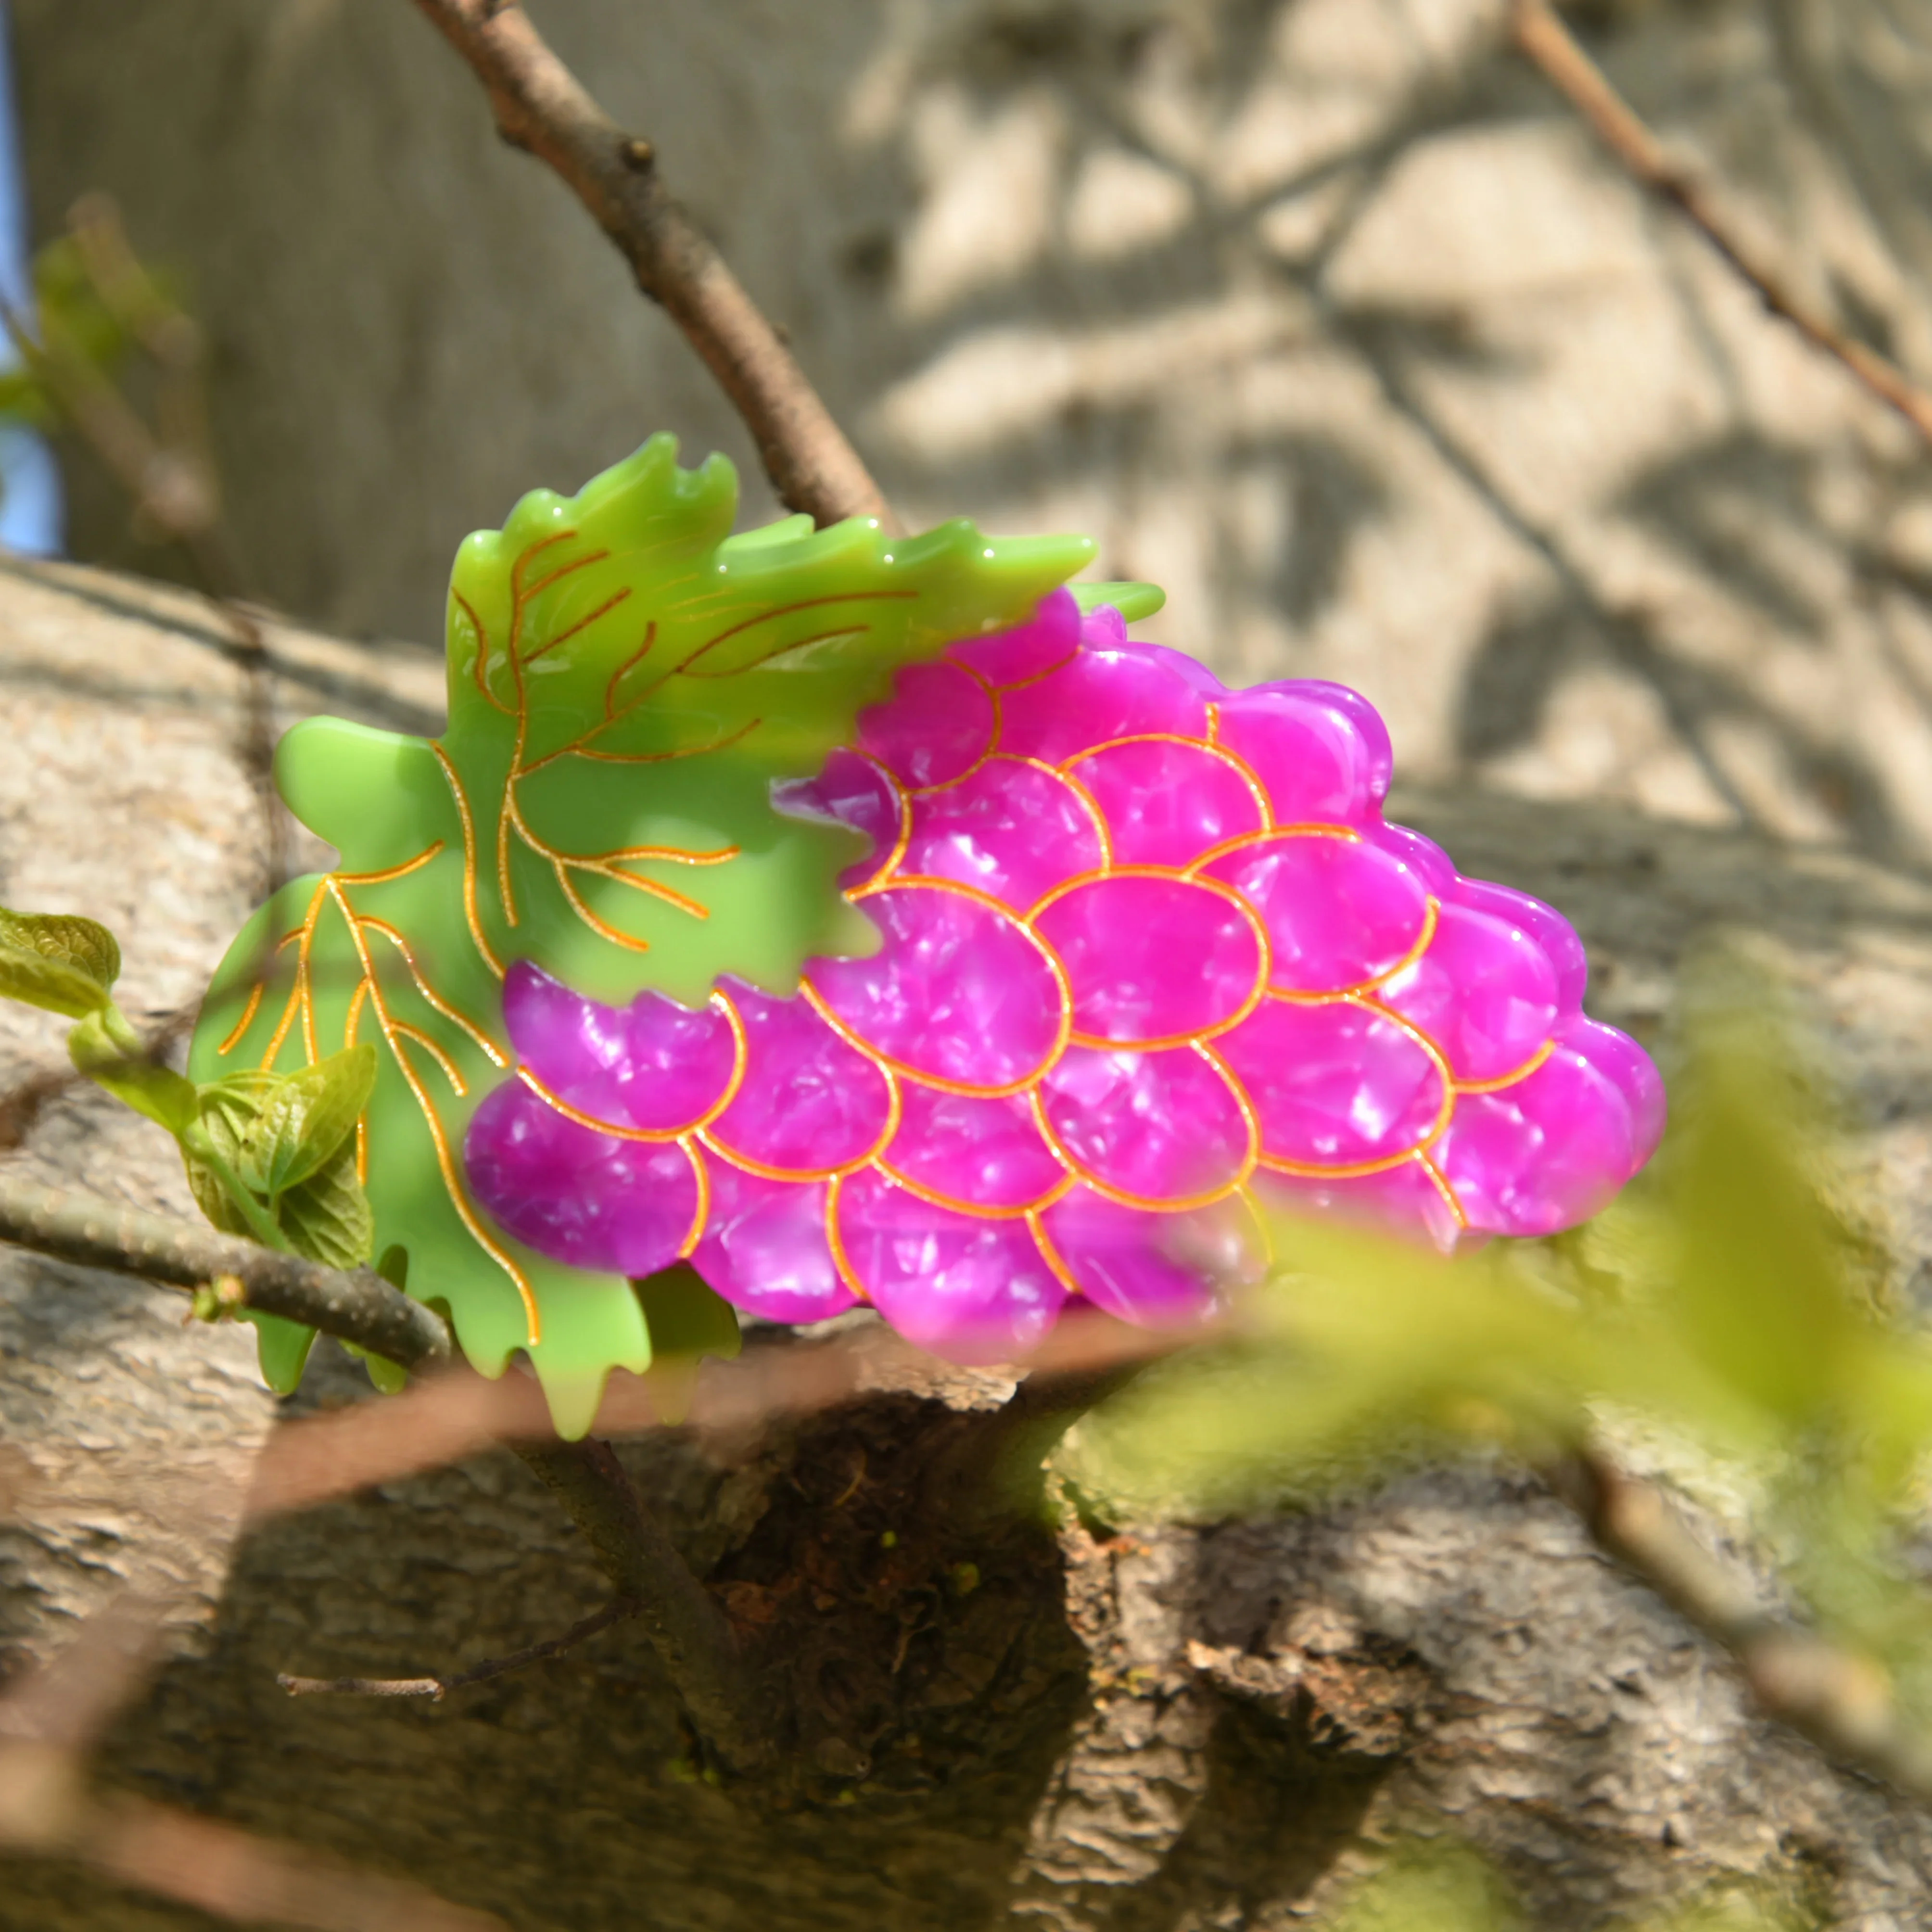
{"type": "Polygon", "coordinates": [[[622,133],[551,52],[518,0],[415,0],[469,62],[497,129],[554,168],[663,303],[744,417],[782,502],[819,524],[875,516],[879,485],[697,224],[672,199],[649,141],[622,133]]]}

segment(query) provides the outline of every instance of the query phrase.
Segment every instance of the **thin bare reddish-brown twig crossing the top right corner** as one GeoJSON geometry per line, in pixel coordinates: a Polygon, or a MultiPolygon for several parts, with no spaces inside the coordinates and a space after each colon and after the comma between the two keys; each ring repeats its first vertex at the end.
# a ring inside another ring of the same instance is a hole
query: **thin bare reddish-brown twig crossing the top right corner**
{"type": "Polygon", "coordinates": [[[1671,160],[1663,143],[1563,25],[1549,0],[1515,0],[1511,33],[1522,54],[1577,108],[1623,168],[1660,201],[1677,209],[1772,315],[1789,323],[1814,350],[1847,369],[1932,442],[1932,394],[1918,388],[1903,369],[1886,361],[1876,350],[1853,342],[1822,315],[1804,307],[1772,269],[1752,259],[1745,243],[1731,234],[1712,197],[1694,176],[1671,160]]]}

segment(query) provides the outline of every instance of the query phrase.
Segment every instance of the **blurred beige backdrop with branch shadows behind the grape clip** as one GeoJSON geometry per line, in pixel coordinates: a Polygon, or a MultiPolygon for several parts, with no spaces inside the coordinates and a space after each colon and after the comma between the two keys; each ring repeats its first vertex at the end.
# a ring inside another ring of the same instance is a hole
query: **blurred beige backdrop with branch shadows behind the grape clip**
{"type": "MultiPolygon", "coordinates": [[[[912,520],[1072,526],[1399,769],[1932,856],[1932,468],[1648,207],[1499,0],[543,0],[912,520]]],[[[214,330],[261,589],[431,639],[458,539],[744,435],[406,0],[17,0],[35,224],[214,330]]],[[[1594,0],[1741,232],[1932,373],[1932,6],[1594,0]]],[[[77,554],[133,560],[70,462],[77,554]]]]}

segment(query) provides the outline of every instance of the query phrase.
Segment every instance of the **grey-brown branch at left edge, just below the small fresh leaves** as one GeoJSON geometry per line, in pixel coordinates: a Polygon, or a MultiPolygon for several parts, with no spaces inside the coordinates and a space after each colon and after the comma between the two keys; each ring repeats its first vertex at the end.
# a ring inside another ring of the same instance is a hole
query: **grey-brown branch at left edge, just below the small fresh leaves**
{"type": "Polygon", "coordinates": [[[373,1269],[342,1273],[97,1194],[0,1173],[0,1240],[176,1289],[232,1283],[228,1306],[305,1321],[402,1368],[439,1368],[454,1358],[440,1318],[373,1269]]]}

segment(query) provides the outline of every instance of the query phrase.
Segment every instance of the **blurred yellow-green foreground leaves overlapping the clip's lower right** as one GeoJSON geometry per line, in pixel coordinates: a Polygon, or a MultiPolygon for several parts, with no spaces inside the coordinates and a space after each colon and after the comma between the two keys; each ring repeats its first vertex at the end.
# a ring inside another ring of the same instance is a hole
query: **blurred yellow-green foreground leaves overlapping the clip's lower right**
{"type": "Polygon", "coordinates": [[[1833,1206],[1828,1111],[1766,1010],[1706,1003],[1652,1171],[1569,1236],[1445,1260],[1277,1221],[1277,1269],[1233,1339],[1144,1372],[1057,1466],[1095,1515],[1134,1520],[1476,1451],[1561,1470],[1629,1445],[1716,1499],[1768,1615],[1932,1727],[1932,1343],[1833,1206]]]}

